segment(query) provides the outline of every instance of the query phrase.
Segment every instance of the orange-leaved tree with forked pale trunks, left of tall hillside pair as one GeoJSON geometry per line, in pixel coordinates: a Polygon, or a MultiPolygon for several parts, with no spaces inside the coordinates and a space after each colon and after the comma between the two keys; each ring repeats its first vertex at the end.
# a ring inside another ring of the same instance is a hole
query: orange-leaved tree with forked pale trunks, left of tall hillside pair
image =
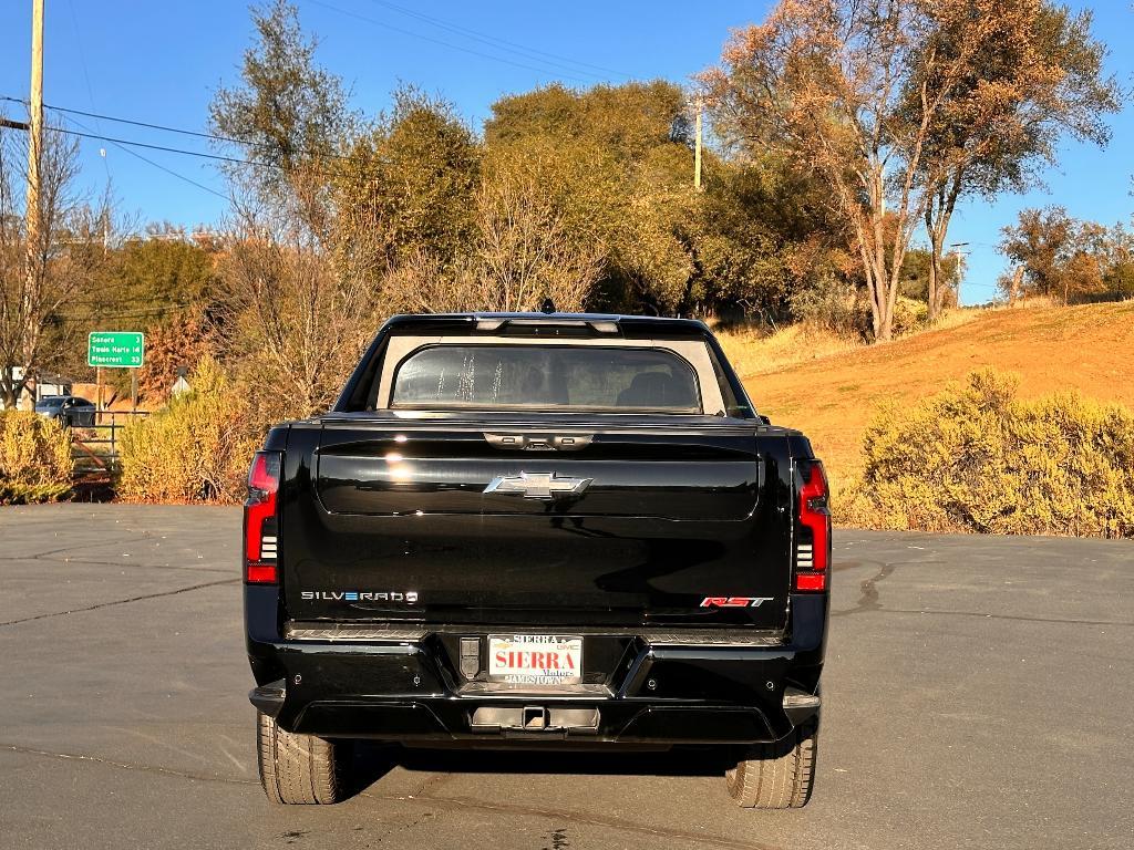
{"type": "Polygon", "coordinates": [[[730,141],[782,151],[829,187],[862,264],[878,340],[891,335],[904,257],[940,188],[925,170],[945,147],[942,127],[965,109],[971,120],[998,118],[970,109],[962,93],[999,83],[987,79],[988,57],[1006,43],[1027,44],[1018,14],[1027,6],[781,0],[764,24],[736,33],[722,66],[703,75],[730,141]]]}

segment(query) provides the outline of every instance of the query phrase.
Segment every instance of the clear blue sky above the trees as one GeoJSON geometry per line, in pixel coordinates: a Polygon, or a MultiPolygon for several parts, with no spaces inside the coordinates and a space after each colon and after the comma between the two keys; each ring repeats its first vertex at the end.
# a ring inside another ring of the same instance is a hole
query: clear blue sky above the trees
{"type": "MultiPolygon", "coordinates": [[[[451,100],[479,127],[501,94],[552,80],[585,86],[663,77],[685,83],[717,60],[729,28],[762,19],[772,3],[298,0],[297,5],[305,29],[321,40],[320,61],[352,86],[354,102],[364,112],[386,108],[389,93],[405,82],[451,100]],[[486,43],[467,31],[509,44],[486,43]]],[[[26,96],[31,6],[31,0],[0,5],[0,95],[26,96]]],[[[1123,34],[1134,29],[1134,11],[1126,0],[1091,6],[1095,33],[1111,48],[1108,69],[1128,87],[1134,83],[1134,56],[1124,50],[1123,34]]],[[[212,92],[236,79],[249,39],[247,6],[234,0],[46,0],[44,101],[202,130],[212,92]]],[[[19,117],[18,104],[3,105],[10,117],[19,117]]],[[[202,139],[74,118],[100,134],[209,150],[202,139]]],[[[962,292],[965,303],[995,295],[1004,267],[995,249],[998,232],[1023,207],[1060,203],[1080,218],[1108,224],[1129,221],[1134,108],[1115,116],[1111,127],[1114,139],[1106,151],[1065,143],[1058,169],[1046,176],[1046,189],[1004,196],[992,204],[974,201],[959,211],[950,241],[966,241],[972,252],[962,292]]],[[[203,186],[223,189],[206,161],[138,153],[203,186]]],[[[108,143],[85,141],[83,167],[92,187],[101,187],[109,175],[122,211],[142,222],[210,223],[219,221],[226,209],[220,197],[108,143]],[[100,148],[107,151],[105,158],[100,148]]]]}

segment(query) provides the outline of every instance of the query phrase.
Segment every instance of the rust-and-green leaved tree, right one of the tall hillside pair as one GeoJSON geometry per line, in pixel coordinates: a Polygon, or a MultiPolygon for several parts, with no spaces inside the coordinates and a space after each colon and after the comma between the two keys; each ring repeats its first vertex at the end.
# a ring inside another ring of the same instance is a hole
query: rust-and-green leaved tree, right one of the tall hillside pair
{"type": "MultiPolygon", "coordinates": [[[[1114,78],[1102,73],[1106,46],[1092,37],[1090,10],[1073,14],[1042,0],[983,6],[975,10],[980,17],[951,3],[930,9],[934,28],[925,50],[951,56],[970,41],[979,45],[971,73],[946,93],[923,159],[931,318],[951,291],[942,263],[957,202],[1027,188],[1039,165],[1055,162],[1065,133],[1106,144],[1103,117],[1120,105],[1114,78]]],[[[939,65],[922,66],[934,68],[940,73],[939,65]]],[[[915,75],[906,86],[912,119],[920,112],[922,82],[915,75]]]]}

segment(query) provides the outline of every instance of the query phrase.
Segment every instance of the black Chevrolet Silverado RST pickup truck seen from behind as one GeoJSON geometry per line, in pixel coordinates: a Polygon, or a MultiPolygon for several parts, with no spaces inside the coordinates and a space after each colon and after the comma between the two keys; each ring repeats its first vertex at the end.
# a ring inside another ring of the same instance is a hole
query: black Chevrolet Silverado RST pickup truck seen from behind
{"type": "Polygon", "coordinates": [[[701,322],[395,317],[248,490],[272,800],[342,799],[376,739],[713,746],[739,805],[807,802],[827,482],[701,322]]]}

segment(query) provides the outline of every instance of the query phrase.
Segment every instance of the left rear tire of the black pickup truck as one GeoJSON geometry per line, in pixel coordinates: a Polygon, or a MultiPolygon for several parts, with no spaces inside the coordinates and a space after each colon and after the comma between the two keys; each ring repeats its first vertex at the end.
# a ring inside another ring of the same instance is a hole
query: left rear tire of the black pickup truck
{"type": "Polygon", "coordinates": [[[349,742],[287,732],[274,717],[256,712],[256,753],[260,783],[272,802],[331,804],[346,799],[349,742]]]}

